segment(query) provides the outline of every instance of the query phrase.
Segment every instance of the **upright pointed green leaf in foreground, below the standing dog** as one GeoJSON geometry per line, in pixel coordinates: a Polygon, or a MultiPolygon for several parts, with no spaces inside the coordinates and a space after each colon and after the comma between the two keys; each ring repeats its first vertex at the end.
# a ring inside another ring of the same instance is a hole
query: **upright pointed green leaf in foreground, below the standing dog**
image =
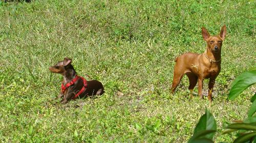
{"type": "MultiPolygon", "coordinates": [[[[214,116],[209,112],[207,108],[205,108],[205,114],[200,118],[196,128],[194,129],[194,134],[204,130],[217,130],[217,124],[214,116]]],[[[212,139],[214,134],[215,133],[213,132],[205,135],[204,137],[212,139]]]]}

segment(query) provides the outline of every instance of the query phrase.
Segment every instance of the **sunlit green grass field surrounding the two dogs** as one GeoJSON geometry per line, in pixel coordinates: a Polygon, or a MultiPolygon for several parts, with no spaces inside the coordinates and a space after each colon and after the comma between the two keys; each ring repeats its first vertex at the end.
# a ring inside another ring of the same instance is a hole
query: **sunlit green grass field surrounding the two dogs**
{"type": "Polygon", "coordinates": [[[251,88],[227,100],[232,80],[255,66],[255,6],[255,1],[0,2],[0,140],[186,142],[207,107],[217,121],[216,142],[231,142],[234,134],[221,130],[246,117],[247,95],[255,92],[251,88]],[[218,34],[224,24],[214,102],[189,99],[186,77],[170,95],[176,56],[202,53],[201,27],[218,34]],[[53,105],[62,77],[48,67],[65,56],[79,75],[100,80],[105,93],[53,105]]]}

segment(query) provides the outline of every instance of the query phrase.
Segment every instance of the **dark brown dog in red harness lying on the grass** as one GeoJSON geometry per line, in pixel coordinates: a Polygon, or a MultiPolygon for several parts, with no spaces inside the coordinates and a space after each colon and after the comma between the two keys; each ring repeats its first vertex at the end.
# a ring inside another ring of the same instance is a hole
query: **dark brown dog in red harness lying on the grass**
{"type": "Polygon", "coordinates": [[[67,103],[70,99],[76,99],[84,96],[102,95],[104,93],[103,85],[100,81],[90,80],[78,76],[74,67],[71,65],[72,60],[64,58],[49,70],[53,73],[60,73],[63,76],[61,90],[57,98],[63,97],[61,103],[67,103]]]}

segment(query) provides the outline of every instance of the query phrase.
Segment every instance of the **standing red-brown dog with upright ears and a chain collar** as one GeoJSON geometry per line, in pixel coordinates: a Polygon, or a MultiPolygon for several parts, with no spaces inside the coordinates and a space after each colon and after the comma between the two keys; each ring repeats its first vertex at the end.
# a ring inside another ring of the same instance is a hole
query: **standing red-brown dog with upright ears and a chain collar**
{"type": "Polygon", "coordinates": [[[212,89],[216,77],[221,71],[221,46],[226,35],[226,25],[222,26],[220,35],[210,36],[206,28],[202,27],[204,41],[207,42],[207,48],[204,53],[187,52],[175,59],[174,79],[172,93],[174,93],[183,75],[186,74],[189,79],[190,96],[198,81],[198,95],[203,98],[203,80],[209,78],[208,100],[212,100],[212,89]]]}

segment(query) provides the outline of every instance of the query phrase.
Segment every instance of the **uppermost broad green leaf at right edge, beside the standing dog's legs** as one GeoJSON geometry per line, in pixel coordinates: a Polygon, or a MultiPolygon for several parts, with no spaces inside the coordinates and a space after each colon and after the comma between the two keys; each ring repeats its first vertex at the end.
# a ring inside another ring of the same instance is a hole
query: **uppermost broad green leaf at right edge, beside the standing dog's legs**
{"type": "Polygon", "coordinates": [[[256,83],[256,70],[247,71],[239,75],[232,83],[228,99],[233,100],[250,85],[256,83]]]}

